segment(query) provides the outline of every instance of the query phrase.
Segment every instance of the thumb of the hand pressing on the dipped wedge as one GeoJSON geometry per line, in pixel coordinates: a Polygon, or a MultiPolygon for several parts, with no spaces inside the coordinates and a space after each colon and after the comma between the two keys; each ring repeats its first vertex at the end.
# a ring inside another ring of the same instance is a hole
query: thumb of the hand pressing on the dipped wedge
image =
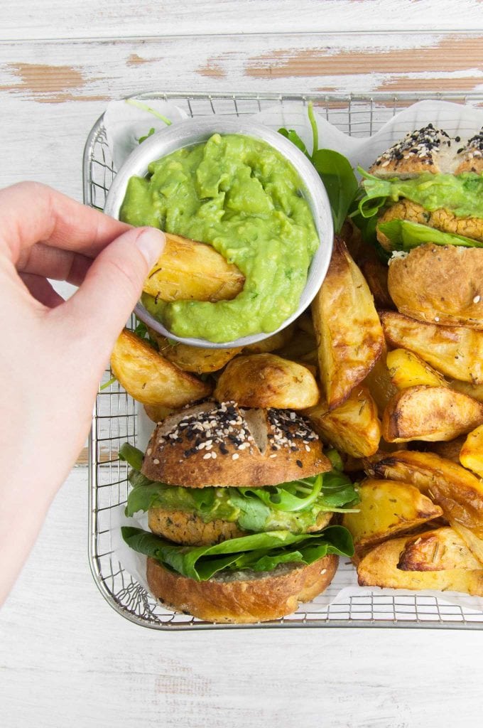
{"type": "Polygon", "coordinates": [[[97,351],[111,352],[165,242],[155,228],[128,230],[95,258],[79,290],[60,306],[77,334],[82,331],[97,351]]]}

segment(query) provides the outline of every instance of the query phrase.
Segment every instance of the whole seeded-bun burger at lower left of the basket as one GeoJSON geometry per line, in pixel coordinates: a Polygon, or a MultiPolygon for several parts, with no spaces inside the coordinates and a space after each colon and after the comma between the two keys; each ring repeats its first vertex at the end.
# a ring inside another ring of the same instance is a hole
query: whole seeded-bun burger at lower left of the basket
{"type": "Polygon", "coordinates": [[[349,532],[332,514],[358,502],[335,452],[302,416],[206,400],[157,424],[145,454],[130,445],[125,526],[145,554],[153,596],[210,622],[250,623],[295,612],[330,584],[349,532]]]}

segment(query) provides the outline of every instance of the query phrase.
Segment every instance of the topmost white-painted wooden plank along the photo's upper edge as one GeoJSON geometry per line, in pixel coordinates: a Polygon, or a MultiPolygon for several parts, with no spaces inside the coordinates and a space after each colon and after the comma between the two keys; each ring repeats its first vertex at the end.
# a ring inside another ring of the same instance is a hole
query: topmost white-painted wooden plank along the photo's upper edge
{"type": "Polygon", "coordinates": [[[3,0],[0,39],[483,29],[479,0],[3,0]]]}

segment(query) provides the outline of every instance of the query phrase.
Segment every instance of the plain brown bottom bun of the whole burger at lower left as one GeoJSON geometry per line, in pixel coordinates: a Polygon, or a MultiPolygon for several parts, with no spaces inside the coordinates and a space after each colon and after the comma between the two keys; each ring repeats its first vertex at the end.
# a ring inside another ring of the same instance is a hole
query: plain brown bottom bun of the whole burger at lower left
{"type": "Polygon", "coordinates": [[[148,558],[147,578],[153,596],[177,612],[207,622],[250,624],[296,612],[300,602],[311,601],[330,585],[338,561],[331,554],[308,566],[284,564],[270,573],[225,572],[224,577],[196,582],[148,558]]]}

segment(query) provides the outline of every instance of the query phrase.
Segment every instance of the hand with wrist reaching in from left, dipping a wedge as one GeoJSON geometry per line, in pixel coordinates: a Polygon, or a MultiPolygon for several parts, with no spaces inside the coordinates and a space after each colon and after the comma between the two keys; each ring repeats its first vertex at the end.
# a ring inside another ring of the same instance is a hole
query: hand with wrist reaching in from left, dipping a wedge
{"type": "Polygon", "coordinates": [[[0,191],[0,604],[89,432],[114,341],[164,235],[49,187],[0,191]],[[79,286],[68,299],[47,281],[79,286]]]}

